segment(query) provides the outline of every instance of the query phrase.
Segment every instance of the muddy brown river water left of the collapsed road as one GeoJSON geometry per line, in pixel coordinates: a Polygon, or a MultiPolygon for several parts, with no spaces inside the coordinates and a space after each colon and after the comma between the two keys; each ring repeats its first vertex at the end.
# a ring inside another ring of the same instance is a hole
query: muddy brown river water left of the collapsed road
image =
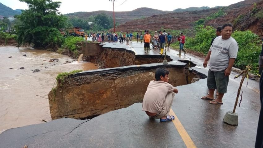
{"type": "Polygon", "coordinates": [[[0,46],[0,133],[9,128],[39,124],[42,120],[50,121],[49,102],[45,98],[58,73],[97,69],[93,63],[73,60],[46,50],[0,46]],[[10,56],[12,58],[8,58],[10,56]],[[59,62],[49,62],[53,58],[59,62]],[[24,69],[18,69],[20,67],[24,69]],[[33,73],[34,69],[41,71],[33,73]]]}

